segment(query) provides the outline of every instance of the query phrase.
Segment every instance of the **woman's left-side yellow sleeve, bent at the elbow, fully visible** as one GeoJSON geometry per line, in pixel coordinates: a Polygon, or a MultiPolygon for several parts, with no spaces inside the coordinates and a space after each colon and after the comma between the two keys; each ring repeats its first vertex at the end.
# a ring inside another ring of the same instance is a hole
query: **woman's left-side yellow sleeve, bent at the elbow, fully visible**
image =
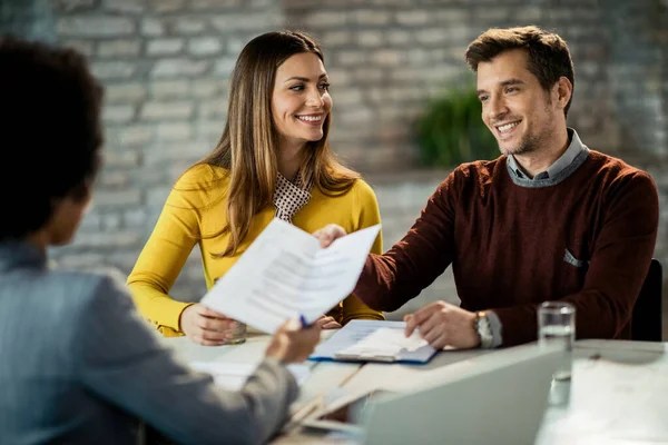
{"type": "Polygon", "coordinates": [[[169,194],[160,217],[144,246],[128,286],[137,309],[165,336],[183,335],[179,319],[191,303],[171,298],[168,293],[199,239],[198,194],[181,177],[169,194]]]}

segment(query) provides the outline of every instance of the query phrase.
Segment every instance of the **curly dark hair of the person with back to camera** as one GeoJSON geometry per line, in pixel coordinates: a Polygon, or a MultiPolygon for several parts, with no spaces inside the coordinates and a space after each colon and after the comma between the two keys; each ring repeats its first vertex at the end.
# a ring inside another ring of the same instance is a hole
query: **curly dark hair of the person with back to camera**
{"type": "Polygon", "coordinates": [[[95,180],[102,87],[75,50],[14,37],[0,37],[0,239],[22,238],[95,180]]]}

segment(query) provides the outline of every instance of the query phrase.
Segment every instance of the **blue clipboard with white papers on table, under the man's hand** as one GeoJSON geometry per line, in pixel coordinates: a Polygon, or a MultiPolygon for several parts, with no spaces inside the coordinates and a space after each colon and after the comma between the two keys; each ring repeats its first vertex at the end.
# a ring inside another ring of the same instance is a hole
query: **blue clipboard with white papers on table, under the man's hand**
{"type": "Polygon", "coordinates": [[[426,363],[436,353],[414,332],[404,336],[403,322],[351,320],[318,345],[313,360],[426,363]]]}

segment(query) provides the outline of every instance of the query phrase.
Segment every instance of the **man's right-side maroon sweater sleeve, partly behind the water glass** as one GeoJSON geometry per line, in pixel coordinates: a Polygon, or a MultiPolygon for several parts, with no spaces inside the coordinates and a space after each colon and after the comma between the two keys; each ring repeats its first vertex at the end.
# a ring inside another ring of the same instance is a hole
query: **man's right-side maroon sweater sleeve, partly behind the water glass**
{"type": "MultiPolygon", "coordinates": [[[[602,202],[603,221],[582,289],[562,298],[576,306],[578,338],[616,338],[631,318],[658,230],[657,187],[642,171],[617,178],[602,202]]],[[[503,346],[538,336],[536,305],[495,308],[503,346]]]]}

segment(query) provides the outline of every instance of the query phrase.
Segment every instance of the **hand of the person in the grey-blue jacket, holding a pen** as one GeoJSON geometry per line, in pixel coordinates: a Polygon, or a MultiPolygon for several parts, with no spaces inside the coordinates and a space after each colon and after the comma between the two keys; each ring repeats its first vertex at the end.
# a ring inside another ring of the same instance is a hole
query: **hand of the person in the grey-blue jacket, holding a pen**
{"type": "Polygon", "coordinates": [[[287,320],[276,330],[265,355],[283,363],[304,362],[320,342],[321,327],[302,328],[297,319],[287,320]]]}

